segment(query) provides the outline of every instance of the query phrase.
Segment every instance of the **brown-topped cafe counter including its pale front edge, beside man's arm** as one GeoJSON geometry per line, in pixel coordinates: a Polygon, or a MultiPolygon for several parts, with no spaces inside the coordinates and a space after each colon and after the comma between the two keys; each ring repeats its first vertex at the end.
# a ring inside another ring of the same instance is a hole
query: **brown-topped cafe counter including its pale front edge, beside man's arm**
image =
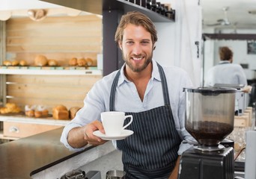
{"type": "Polygon", "coordinates": [[[97,160],[115,148],[112,142],[83,151],[70,151],[60,142],[63,128],[0,145],[1,178],[61,178],[67,172],[97,160]]]}

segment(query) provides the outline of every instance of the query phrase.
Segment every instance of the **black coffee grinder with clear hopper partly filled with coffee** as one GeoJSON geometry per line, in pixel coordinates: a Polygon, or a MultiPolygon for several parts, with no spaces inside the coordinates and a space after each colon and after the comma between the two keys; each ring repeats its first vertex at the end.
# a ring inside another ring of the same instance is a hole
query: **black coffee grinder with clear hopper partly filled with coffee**
{"type": "Polygon", "coordinates": [[[185,128],[198,142],[180,157],[179,179],[234,179],[234,149],[221,145],[234,129],[236,89],[184,89],[185,128]]]}

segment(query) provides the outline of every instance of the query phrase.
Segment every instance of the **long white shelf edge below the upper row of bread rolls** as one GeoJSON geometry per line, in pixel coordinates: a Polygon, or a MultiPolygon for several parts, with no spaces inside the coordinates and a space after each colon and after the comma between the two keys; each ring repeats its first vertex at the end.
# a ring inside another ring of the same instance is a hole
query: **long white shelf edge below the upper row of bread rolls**
{"type": "Polygon", "coordinates": [[[4,75],[102,75],[100,69],[0,69],[4,75]]]}

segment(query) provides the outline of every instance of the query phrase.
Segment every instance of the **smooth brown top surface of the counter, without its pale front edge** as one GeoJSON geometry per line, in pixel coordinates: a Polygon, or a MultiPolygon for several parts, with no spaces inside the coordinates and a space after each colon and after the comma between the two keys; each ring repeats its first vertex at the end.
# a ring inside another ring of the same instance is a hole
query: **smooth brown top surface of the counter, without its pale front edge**
{"type": "Polygon", "coordinates": [[[59,140],[63,128],[0,145],[0,178],[25,179],[84,151],[69,151],[59,140]]]}

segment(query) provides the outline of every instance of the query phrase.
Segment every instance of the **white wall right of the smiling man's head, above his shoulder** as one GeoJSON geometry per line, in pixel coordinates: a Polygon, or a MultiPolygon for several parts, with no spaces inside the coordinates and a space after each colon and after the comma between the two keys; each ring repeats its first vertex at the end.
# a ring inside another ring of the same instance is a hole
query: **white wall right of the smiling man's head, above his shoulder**
{"type": "Polygon", "coordinates": [[[153,58],[165,66],[179,66],[189,73],[195,87],[201,85],[201,7],[197,0],[161,1],[176,10],[175,22],[157,22],[159,41],[153,58]],[[199,44],[198,48],[195,42],[199,44]]]}

